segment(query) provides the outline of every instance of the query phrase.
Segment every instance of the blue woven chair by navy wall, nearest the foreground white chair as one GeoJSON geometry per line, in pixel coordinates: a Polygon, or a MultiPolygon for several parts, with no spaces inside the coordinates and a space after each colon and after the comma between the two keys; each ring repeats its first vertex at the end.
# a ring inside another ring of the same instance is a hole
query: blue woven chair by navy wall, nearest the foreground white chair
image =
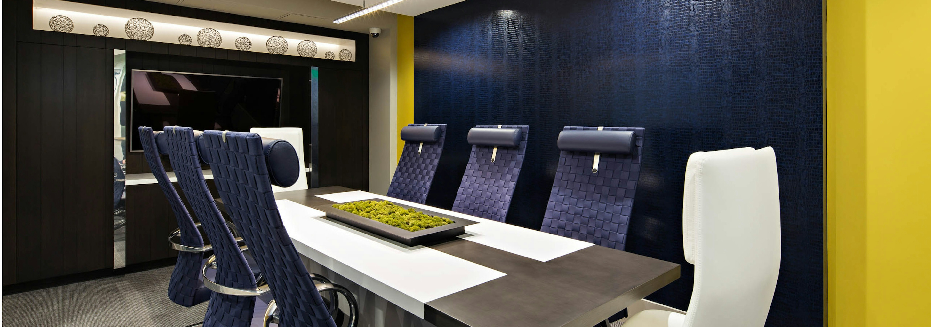
{"type": "Polygon", "coordinates": [[[639,127],[564,127],[540,230],[624,250],[644,132],[639,127]]]}

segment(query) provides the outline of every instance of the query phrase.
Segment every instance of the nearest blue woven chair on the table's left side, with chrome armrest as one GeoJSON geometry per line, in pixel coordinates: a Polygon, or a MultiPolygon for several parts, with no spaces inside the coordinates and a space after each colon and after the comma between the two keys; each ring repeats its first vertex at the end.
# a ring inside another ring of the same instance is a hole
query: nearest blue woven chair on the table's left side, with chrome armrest
{"type": "MultiPolygon", "coordinates": [[[[285,141],[276,141],[290,146],[285,141]]],[[[201,156],[213,171],[223,203],[249,244],[250,253],[262,268],[275,298],[265,311],[264,324],[335,327],[320,296],[320,292],[333,291],[345,296],[350,311],[349,326],[355,326],[358,322],[355,297],[339,285],[315,285],[278,214],[272,183],[287,187],[290,184],[285,181],[291,175],[290,168],[283,175],[276,166],[293,167],[296,179],[299,165],[296,155],[282,155],[272,147],[274,144],[263,144],[262,137],[254,133],[208,130],[198,143],[201,156]],[[293,163],[279,162],[286,159],[293,163]]]]}

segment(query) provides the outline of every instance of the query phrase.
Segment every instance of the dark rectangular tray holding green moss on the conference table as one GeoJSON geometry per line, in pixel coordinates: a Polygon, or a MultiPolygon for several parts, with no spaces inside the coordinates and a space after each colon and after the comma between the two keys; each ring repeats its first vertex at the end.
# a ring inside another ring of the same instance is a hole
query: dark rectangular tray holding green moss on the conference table
{"type": "MultiPolygon", "coordinates": [[[[358,200],[358,201],[384,201],[383,199],[368,199],[368,200],[358,200]]],[[[350,201],[346,203],[355,203],[358,201],[350,201]]],[[[391,201],[388,201],[393,203],[391,201]]],[[[435,213],[429,210],[424,210],[417,207],[412,207],[410,205],[404,205],[400,203],[394,203],[404,209],[413,208],[416,211],[422,212],[430,216],[441,216],[453,221],[452,224],[447,224],[432,229],[421,229],[417,231],[410,231],[407,229],[400,229],[388,224],[385,224],[381,221],[372,220],[364,216],[358,216],[356,214],[349,213],[337,208],[332,207],[333,204],[343,204],[343,203],[331,203],[323,205],[314,205],[314,209],[327,213],[327,217],[344,222],[352,227],[357,229],[362,229],[372,234],[385,237],[389,240],[400,242],[405,245],[420,245],[424,243],[433,243],[440,242],[452,239],[456,236],[466,233],[466,226],[472,224],[478,224],[477,221],[472,221],[468,219],[463,219],[456,216],[447,216],[439,213],[435,213]]]]}

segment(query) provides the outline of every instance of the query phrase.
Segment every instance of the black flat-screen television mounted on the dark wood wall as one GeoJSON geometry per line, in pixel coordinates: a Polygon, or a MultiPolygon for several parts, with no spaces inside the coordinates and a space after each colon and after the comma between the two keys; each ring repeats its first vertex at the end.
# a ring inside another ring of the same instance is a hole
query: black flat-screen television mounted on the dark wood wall
{"type": "Polygon", "coordinates": [[[132,70],[131,76],[133,151],[142,150],[135,141],[139,126],[248,132],[279,125],[280,78],[143,70],[132,70]]]}

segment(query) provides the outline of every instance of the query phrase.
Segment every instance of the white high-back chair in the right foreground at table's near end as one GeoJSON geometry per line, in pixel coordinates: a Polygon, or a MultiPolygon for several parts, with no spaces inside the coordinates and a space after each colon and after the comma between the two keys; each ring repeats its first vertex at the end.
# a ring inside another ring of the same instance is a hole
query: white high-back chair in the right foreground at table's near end
{"type": "Polygon", "coordinates": [[[695,264],[685,315],[644,310],[624,327],[762,327],[779,275],[776,152],[695,152],[685,168],[682,240],[695,264]]]}

